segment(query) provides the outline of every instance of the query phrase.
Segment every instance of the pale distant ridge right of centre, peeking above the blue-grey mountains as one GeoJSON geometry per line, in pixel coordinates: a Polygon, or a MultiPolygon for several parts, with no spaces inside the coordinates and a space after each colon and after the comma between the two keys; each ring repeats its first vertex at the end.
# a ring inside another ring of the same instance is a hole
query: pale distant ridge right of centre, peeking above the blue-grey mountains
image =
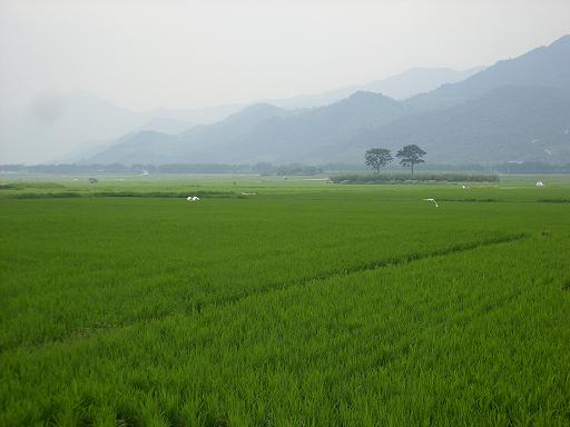
{"type": "Polygon", "coordinates": [[[331,105],[357,91],[376,92],[402,100],[414,95],[431,91],[445,83],[462,81],[481,70],[483,70],[483,67],[464,71],[456,71],[449,68],[412,68],[402,73],[386,79],[375,80],[367,85],[346,86],[323,93],[273,99],[268,102],[282,108],[314,108],[331,105]]]}

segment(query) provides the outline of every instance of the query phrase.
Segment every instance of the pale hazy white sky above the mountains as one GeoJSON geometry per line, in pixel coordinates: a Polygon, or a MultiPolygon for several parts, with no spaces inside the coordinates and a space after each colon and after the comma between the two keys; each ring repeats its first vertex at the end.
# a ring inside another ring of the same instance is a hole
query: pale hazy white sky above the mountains
{"type": "Polygon", "coordinates": [[[569,32],[569,0],[0,0],[0,113],[71,89],[131,109],[289,97],[569,32]]]}

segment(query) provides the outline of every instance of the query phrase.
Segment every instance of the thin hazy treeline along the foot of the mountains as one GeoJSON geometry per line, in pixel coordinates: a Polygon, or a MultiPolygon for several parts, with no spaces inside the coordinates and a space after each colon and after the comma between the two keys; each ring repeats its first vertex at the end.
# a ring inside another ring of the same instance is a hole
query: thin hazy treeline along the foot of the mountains
{"type": "MultiPolygon", "coordinates": [[[[360,172],[363,165],[324,163],[318,166],[288,163],[272,165],[259,162],[255,165],[223,165],[223,163],[168,163],[168,165],[0,165],[0,172],[13,173],[261,173],[261,175],[321,175],[330,172],[360,172]]],[[[400,167],[386,168],[400,171],[400,167]]],[[[498,165],[422,165],[424,171],[472,171],[484,173],[570,173],[570,163],[549,165],[542,162],[504,162],[498,165]]]]}

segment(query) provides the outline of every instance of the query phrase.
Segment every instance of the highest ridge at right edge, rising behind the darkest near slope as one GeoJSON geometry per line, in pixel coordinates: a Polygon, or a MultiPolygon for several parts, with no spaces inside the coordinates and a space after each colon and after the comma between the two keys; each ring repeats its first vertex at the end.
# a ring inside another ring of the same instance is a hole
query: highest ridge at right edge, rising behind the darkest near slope
{"type": "Polygon", "coordinates": [[[499,61],[464,81],[444,85],[406,102],[417,109],[448,108],[503,86],[541,86],[569,90],[570,36],[514,59],[499,61]]]}

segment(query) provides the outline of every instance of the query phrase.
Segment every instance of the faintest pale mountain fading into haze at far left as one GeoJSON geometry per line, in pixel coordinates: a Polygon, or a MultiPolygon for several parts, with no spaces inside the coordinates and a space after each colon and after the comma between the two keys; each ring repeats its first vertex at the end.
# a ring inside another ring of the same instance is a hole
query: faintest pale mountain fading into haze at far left
{"type": "Polygon", "coordinates": [[[2,151],[26,151],[30,161],[69,161],[87,157],[109,140],[134,130],[180,132],[197,123],[219,121],[240,109],[220,106],[204,109],[132,111],[82,90],[62,96],[40,96],[21,111],[0,117],[2,151]]]}

